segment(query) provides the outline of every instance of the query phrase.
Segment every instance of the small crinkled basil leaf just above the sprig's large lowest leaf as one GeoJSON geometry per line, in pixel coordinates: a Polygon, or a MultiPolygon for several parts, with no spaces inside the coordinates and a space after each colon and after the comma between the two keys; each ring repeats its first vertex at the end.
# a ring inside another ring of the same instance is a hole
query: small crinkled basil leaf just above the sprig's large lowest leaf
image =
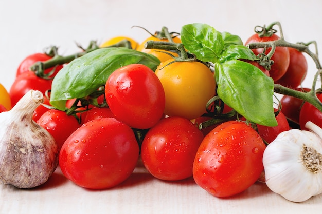
{"type": "Polygon", "coordinates": [[[219,62],[223,63],[228,60],[256,60],[254,52],[244,45],[229,45],[221,54],[219,62]]]}

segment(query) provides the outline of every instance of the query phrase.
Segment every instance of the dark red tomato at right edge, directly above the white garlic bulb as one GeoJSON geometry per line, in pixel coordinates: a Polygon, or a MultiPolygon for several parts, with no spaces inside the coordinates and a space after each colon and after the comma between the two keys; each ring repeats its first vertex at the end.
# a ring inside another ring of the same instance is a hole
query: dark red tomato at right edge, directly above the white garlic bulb
{"type": "MultiPolygon", "coordinates": [[[[322,102],[322,93],[316,94],[317,98],[322,102]]],[[[322,127],[322,112],[315,108],[312,104],[305,102],[300,110],[300,128],[308,130],[305,124],[308,121],[322,127]]]]}

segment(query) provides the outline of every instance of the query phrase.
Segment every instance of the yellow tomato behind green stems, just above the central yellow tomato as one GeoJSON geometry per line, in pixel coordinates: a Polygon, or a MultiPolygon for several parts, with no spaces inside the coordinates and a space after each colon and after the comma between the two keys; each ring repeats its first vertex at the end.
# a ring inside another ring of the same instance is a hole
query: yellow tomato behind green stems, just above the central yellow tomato
{"type": "MultiPolygon", "coordinates": [[[[176,53],[173,53],[173,52],[170,52],[170,51],[165,51],[165,50],[158,50],[158,49],[146,49],[144,48],[144,45],[146,44],[146,42],[148,41],[164,41],[164,42],[169,42],[169,40],[167,39],[159,39],[157,37],[154,37],[154,36],[150,36],[148,37],[144,42],[142,42],[136,50],[138,51],[142,51],[142,52],[145,52],[145,53],[150,53],[156,57],[158,57],[158,59],[160,60],[160,62],[165,62],[167,60],[170,60],[172,59],[172,57],[166,53],[162,53],[160,51],[164,51],[164,52],[168,52],[168,53],[171,53],[172,55],[174,55],[175,57],[178,56],[178,54],[176,53]]],[[[181,43],[181,39],[179,37],[174,37],[173,38],[173,42],[175,43],[181,43]]]]}

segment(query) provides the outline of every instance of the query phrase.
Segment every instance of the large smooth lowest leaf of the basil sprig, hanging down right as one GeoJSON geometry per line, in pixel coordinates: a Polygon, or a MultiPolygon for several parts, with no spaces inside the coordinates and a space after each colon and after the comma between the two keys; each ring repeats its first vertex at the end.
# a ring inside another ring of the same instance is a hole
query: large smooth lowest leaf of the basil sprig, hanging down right
{"type": "Polygon", "coordinates": [[[276,126],[273,108],[273,79],[252,64],[230,60],[215,64],[217,93],[247,120],[276,126]]]}

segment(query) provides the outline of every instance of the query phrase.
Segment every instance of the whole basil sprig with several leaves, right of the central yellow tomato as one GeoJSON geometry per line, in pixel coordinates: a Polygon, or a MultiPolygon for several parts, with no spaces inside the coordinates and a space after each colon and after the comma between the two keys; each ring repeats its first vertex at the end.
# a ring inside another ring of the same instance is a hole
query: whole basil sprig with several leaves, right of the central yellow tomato
{"type": "Polygon", "coordinates": [[[249,121],[276,126],[273,109],[274,81],[259,68],[239,59],[256,60],[239,36],[219,32],[206,24],[182,27],[185,48],[215,68],[217,93],[231,108],[249,121]]]}

